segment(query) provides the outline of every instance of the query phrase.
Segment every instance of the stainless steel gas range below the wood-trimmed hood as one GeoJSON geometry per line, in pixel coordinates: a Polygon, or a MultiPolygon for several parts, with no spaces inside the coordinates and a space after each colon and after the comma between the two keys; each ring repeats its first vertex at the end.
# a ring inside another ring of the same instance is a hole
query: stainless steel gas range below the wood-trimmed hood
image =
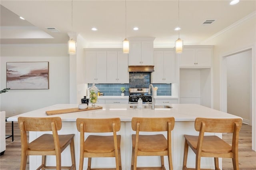
{"type": "Polygon", "coordinates": [[[129,88],[129,103],[137,104],[140,97],[143,103],[152,103],[152,96],[148,94],[148,88],[129,88]]]}

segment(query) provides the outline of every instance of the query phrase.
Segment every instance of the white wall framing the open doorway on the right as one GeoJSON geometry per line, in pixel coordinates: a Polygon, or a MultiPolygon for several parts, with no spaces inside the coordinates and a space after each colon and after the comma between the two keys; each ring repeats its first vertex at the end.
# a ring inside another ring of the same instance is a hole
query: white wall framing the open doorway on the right
{"type": "Polygon", "coordinates": [[[252,49],[252,149],[256,150],[256,13],[216,34],[202,45],[214,45],[213,52],[213,104],[214,109],[225,111],[225,79],[222,79],[223,57],[252,49]]]}

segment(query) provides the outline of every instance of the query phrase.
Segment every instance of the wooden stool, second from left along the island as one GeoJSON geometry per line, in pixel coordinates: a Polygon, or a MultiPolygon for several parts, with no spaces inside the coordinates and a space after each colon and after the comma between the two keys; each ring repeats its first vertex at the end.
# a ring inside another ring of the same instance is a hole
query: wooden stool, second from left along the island
{"type": "MultiPolygon", "coordinates": [[[[119,118],[112,119],[76,119],[76,127],[80,132],[80,164],[79,170],[83,169],[84,158],[88,158],[88,168],[91,170],[93,157],[115,157],[116,170],[122,170],[120,143],[121,135],[116,135],[120,130],[121,121],[119,118]],[[110,136],[89,135],[84,140],[85,132],[113,132],[110,136]]],[[[102,168],[100,168],[103,170],[102,168]]],[[[109,169],[109,168],[108,168],[109,169]]]]}

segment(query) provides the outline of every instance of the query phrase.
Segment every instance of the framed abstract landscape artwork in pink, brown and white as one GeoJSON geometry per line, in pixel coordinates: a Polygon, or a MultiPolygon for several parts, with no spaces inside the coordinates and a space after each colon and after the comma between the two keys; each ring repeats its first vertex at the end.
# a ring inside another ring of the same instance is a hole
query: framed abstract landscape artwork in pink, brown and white
{"type": "Polygon", "coordinates": [[[6,62],[6,88],[49,89],[49,62],[6,62]]]}

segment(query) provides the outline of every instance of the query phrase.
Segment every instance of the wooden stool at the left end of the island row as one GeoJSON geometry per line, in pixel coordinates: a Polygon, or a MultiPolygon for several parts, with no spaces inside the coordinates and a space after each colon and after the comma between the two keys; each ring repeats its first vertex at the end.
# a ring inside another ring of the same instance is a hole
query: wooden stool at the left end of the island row
{"type": "Polygon", "coordinates": [[[74,134],[58,135],[57,130],[62,128],[60,117],[34,118],[18,117],[21,137],[21,164],[20,170],[26,169],[29,155],[42,155],[42,164],[37,170],[75,170],[74,134]],[[32,142],[28,142],[27,131],[52,131],[52,134],[43,134],[32,142]],[[72,166],[61,166],[61,152],[70,145],[72,166]],[[56,166],[46,166],[46,156],[56,156],[56,166]]]}

